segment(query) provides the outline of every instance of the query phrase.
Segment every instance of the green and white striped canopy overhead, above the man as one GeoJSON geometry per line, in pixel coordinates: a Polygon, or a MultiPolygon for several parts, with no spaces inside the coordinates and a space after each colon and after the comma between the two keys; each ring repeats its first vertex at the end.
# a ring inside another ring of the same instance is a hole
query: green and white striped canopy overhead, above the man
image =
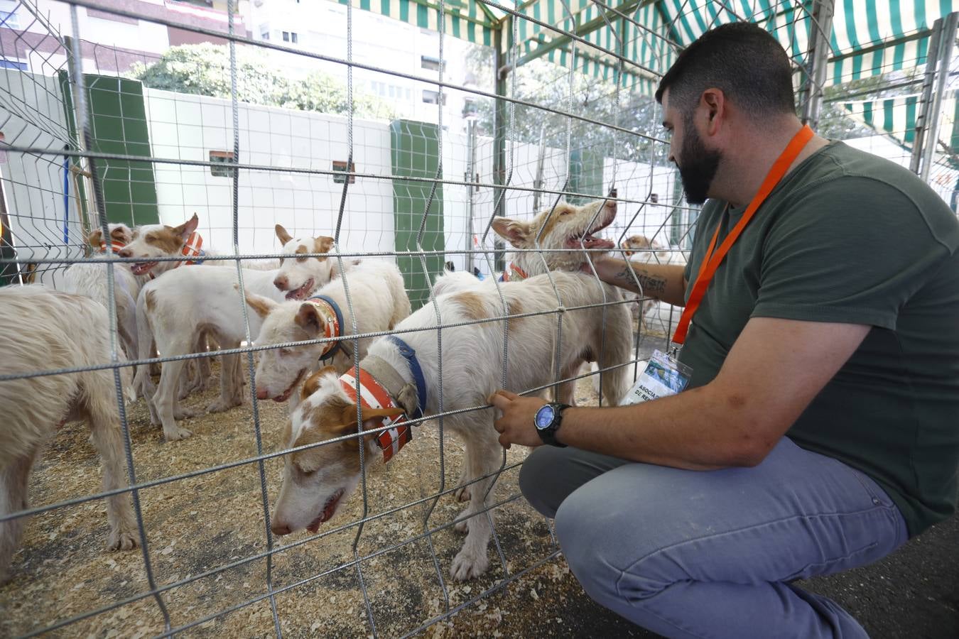
{"type": "MultiPolygon", "coordinates": [[[[432,0],[339,0],[352,2],[423,29],[439,30],[440,5],[432,0]]],[[[651,92],[676,54],[714,26],[748,20],[783,43],[797,64],[807,64],[811,0],[526,0],[485,3],[448,0],[447,35],[518,50],[518,63],[535,57],[595,78],[651,92]],[[518,14],[513,42],[512,20],[518,14]],[[514,47],[515,45],[515,47],[514,47]],[[622,67],[618,56],[624,58],[622,67]]],[[[830,30],[827,84],[868,78],[925,63],[936,19],[959,10],[959,0],[836,0],[830,30]]],[[[800,80],[797,80],[800,81],[800,80]]]]}

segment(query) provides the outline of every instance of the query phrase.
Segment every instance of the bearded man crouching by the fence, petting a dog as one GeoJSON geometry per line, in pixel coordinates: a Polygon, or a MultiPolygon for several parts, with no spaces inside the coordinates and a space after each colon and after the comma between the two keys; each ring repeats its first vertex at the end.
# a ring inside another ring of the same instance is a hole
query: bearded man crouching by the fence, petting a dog
{"type": "Polygon", "coordinates": [[[687,199],[706,202],[690,263],[596,268],[685,305],[683,346],[634,405],[499,391],[500,442],[541,445],[523,493],[586,592],[630,621],[865,637],[791,582],[876,561],[954,510],[959,223],[912,173],[803,126],[759,27],[704,34],[656,98],[687,199]]]}

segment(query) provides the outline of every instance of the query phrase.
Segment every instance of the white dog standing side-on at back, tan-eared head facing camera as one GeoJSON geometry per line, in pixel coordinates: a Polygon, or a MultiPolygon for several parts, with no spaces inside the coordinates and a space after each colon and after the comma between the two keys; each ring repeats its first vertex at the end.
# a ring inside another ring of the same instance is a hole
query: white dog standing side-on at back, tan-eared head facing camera
{"type": "MultiPolygon", "coordinates": [[[[329,238],[319,238],[316,242],[332,245],[332,239],[329,238]]],[[[296,242],[288,241],[282,253],[293,256],[296,248],[296,242]]],[[[291,257],[283,260],[298,259],[291,257]]],[[[307,260],[309,262],[303,263],[312,265],[314,282],[317,285],[326,284],[323,278],[329,277],[331,272],[327,258],[318,256],[307,260]]],[[[244,269],[246,290],[275,302],[283,301],[285,293],[274,285],[279,273],[279,269],[244,269]]],[[[170,270],[163,277],[143,286],[137,300],[137,329],[152,334],[156,350],[164,357],[194,353],[198,331],[211,334],[222,348],[238,348],[246,339],[245,301],[236,288],[238,284],[234,266],[170,270]]],[[[257,334],[262,318],[257,313],[249,313],[248,319],[250,335],[257,334]]],[[[140,358],[147,356],[141,341],[140,358]]],[[[184,364],[184,360],[164,362],[155,393],[152,393],[147,367],[138,367],[136,374],[137,386],[146,389],[148,396],[152,395],[149,400],[151,421],[163,425],[163,435],[167,441],[191,435],[189,430],[176,425],[176,420],[194,415],[193,411],[182,409],[177,401],[177,380],[184,364]]],[[[209,406],[211,412],[221,412],[243,403],[243,375],[238,355],[222,358],[220,382],[220,397],[209,406]]]]}

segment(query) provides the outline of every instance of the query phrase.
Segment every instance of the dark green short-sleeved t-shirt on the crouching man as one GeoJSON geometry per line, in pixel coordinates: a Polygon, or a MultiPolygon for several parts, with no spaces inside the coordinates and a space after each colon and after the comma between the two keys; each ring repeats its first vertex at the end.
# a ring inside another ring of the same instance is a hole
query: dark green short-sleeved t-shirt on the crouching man
{"type": "MultiPolygon", "coordinates": [[[[711,200],[698,273],[745,206],[711,200]]],[[[786,175],[715,273],[680,358],[690,387],[719,371],[751,317],[873,329],[786,435],[858,468],[917,535],[955,510],[959,468],[959,222],[916,175],[832,143],[786,175]]]]}

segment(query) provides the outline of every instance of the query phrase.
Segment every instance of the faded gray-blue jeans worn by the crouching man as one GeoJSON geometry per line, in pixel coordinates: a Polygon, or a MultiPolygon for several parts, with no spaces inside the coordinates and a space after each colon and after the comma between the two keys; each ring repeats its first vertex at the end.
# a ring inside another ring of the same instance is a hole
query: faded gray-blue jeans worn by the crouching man
{"type": "Polygon", "coordinates": [[[872,479],[786,438],[756,468],[712,471],[540,446],[520,488],[555,517],[590,597],[667,637],[865,637],[839,605],[789,582],[907,538],[872,479]]]}

